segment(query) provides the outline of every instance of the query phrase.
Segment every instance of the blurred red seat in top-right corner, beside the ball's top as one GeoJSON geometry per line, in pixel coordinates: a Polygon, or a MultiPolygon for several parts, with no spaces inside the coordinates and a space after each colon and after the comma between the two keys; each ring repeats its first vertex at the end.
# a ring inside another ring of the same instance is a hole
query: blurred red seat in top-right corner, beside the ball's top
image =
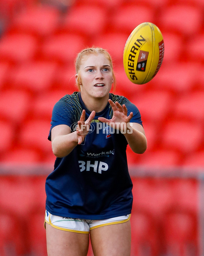
{"type": "Polygon", "coordinates": [[[198,6],[173,3],[160,13],[158,26],[188,37],[200,32],[202,22],[203,13],[198,6]]]}

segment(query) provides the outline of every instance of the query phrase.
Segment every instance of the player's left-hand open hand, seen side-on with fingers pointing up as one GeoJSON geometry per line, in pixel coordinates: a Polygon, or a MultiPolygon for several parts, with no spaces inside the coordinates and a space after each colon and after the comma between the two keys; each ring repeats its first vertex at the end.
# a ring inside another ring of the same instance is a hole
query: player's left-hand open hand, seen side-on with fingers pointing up
{"type": "Polygon", "coordinates": [[[96,114],[96,112],[92,111],[91,114],[89,115],[88,119],[85,121],[86,111],[85,110],[82,111],[80,120],[78,121],[77,129],[76,129],[79,145],[84,141],[86,135],[88,134],[89,128],[90,128],[90,123],[94,119],[95,114],[96,114]]]}

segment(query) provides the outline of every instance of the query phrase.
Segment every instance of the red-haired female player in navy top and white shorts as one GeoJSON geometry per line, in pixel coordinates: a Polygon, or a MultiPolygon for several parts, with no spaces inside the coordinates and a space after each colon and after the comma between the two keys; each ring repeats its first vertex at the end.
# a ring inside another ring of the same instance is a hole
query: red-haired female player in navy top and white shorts
{"type": "Polygon", "coordinates": [[[137,107],[110,93],[113,64],[102,48],[77,56],[79,91],[54,106],[49,140],[56,156],[46,180],[48,256],[130,256],[132,182],[126,146],[147,141],[137,107]]]}

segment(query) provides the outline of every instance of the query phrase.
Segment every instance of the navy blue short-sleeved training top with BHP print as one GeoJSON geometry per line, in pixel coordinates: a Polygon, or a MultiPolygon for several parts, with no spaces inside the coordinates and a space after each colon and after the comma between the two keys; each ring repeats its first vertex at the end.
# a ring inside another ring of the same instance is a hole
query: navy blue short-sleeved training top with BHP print
{"type": "MultiPolygon", "coordinates": [[[[113,102],[125,104],[132,123],[142,125],[137,107],[127,98],[109,94],[113,102]]],[[[86,109],[79,92],[65,95],[54,106],[51,130],[56,125],[74,125],[86,109]]],[[[113,110],[107,103],[96,113],[84,142],[62,158],[56,158],[54,170],[46,179],[46,209],[54,215],[81,219],[107,219],[130,214],[132,181],[126,158],[127,141],[117,130],[102,126],[98,117],[111,119],[113,110]],[[99,125],[100,123],[100,125],[99,125]]]]}

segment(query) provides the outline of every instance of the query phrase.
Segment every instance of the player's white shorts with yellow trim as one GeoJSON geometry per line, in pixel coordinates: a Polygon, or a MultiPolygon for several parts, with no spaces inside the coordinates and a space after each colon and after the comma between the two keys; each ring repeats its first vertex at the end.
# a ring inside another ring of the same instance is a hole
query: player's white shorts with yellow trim
{"type": "Polygon", "coordinates": [[[88,234],[91,229],[99,228],[102,226],[119,224],[129,221],[131,214],[109,218],[109,219],[78,219],[70,217],[60,217],[52,215],[47,210],[45,212],[45,223],[50,224],[52,227],[76,232],[88,234]]]}

